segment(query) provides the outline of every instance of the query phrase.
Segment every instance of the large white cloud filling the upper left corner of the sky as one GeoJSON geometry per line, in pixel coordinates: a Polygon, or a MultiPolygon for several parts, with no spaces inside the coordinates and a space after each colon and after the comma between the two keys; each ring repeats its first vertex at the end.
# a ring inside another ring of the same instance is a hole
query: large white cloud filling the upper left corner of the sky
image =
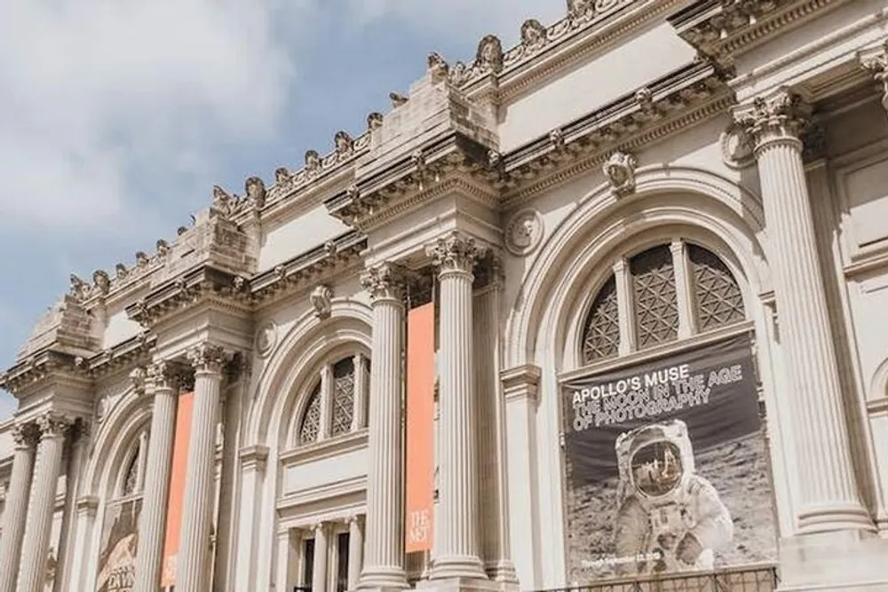
{"type": "Polygon", "coordinates": [[[311,4],[273,2],[5,0],[0,220],[121,230],[145,213],[135,178],[200,171],[214,141],[262,138],[294,73],[275,19],[311,4]]]}

